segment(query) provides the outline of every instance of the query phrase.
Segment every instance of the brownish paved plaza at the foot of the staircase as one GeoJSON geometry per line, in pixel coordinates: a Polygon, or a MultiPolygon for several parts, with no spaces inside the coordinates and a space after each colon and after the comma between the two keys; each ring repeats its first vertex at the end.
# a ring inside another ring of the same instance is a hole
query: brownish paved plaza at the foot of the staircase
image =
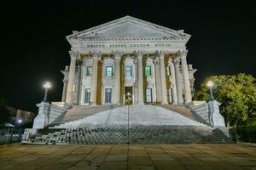
{"type": "Polygon", "coordinates": [[[243,144],[0,146],[0,169],[256,169],[256,147],[243,144]]]}

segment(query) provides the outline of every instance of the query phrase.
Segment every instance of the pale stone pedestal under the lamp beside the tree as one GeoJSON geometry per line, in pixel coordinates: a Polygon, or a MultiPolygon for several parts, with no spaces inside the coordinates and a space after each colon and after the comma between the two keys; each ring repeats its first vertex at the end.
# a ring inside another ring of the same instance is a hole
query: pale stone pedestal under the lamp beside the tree
{"type": "Polygon", "coordinates": [[[218,106],[221,105],[218,101],[208,101],[208,110],[210,124],[212,127],[225,127],[224,117],[220,115],[218,106]]]}

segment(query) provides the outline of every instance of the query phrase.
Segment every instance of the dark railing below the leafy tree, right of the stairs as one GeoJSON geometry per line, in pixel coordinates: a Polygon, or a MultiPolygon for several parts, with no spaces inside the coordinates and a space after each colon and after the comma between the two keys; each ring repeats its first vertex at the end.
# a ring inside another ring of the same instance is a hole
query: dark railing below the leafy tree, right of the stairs
{"type": "Polygon", "coordinates": [[[256,126],[231,127],[230,137],[236,142],[256,143],[256,126]]]}

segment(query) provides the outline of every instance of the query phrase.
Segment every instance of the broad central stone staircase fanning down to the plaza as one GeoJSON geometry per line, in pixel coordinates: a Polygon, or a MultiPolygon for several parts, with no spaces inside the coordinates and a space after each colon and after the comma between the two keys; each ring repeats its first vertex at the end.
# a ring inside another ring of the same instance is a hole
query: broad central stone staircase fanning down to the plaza
{"type": "Polygon", "coordinates": [[[66,122],[28,139],[40,144],[226,143],[224,133],[175,111],[130,105],[66,122]]]}

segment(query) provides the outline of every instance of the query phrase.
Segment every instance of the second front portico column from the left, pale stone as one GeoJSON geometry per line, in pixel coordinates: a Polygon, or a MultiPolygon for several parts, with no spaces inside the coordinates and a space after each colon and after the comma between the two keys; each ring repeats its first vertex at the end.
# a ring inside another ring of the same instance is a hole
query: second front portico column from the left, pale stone
{"type": "Polygon", "coordinates": [[[91,76],[91,87],[90,87],[90,105],[96,105],[96,90],[97,90],[97,75],[98,75],[98,60],[100,59],[100,53],[93,53],[93,64],[92,64],[92,76],[91,76]]]}

